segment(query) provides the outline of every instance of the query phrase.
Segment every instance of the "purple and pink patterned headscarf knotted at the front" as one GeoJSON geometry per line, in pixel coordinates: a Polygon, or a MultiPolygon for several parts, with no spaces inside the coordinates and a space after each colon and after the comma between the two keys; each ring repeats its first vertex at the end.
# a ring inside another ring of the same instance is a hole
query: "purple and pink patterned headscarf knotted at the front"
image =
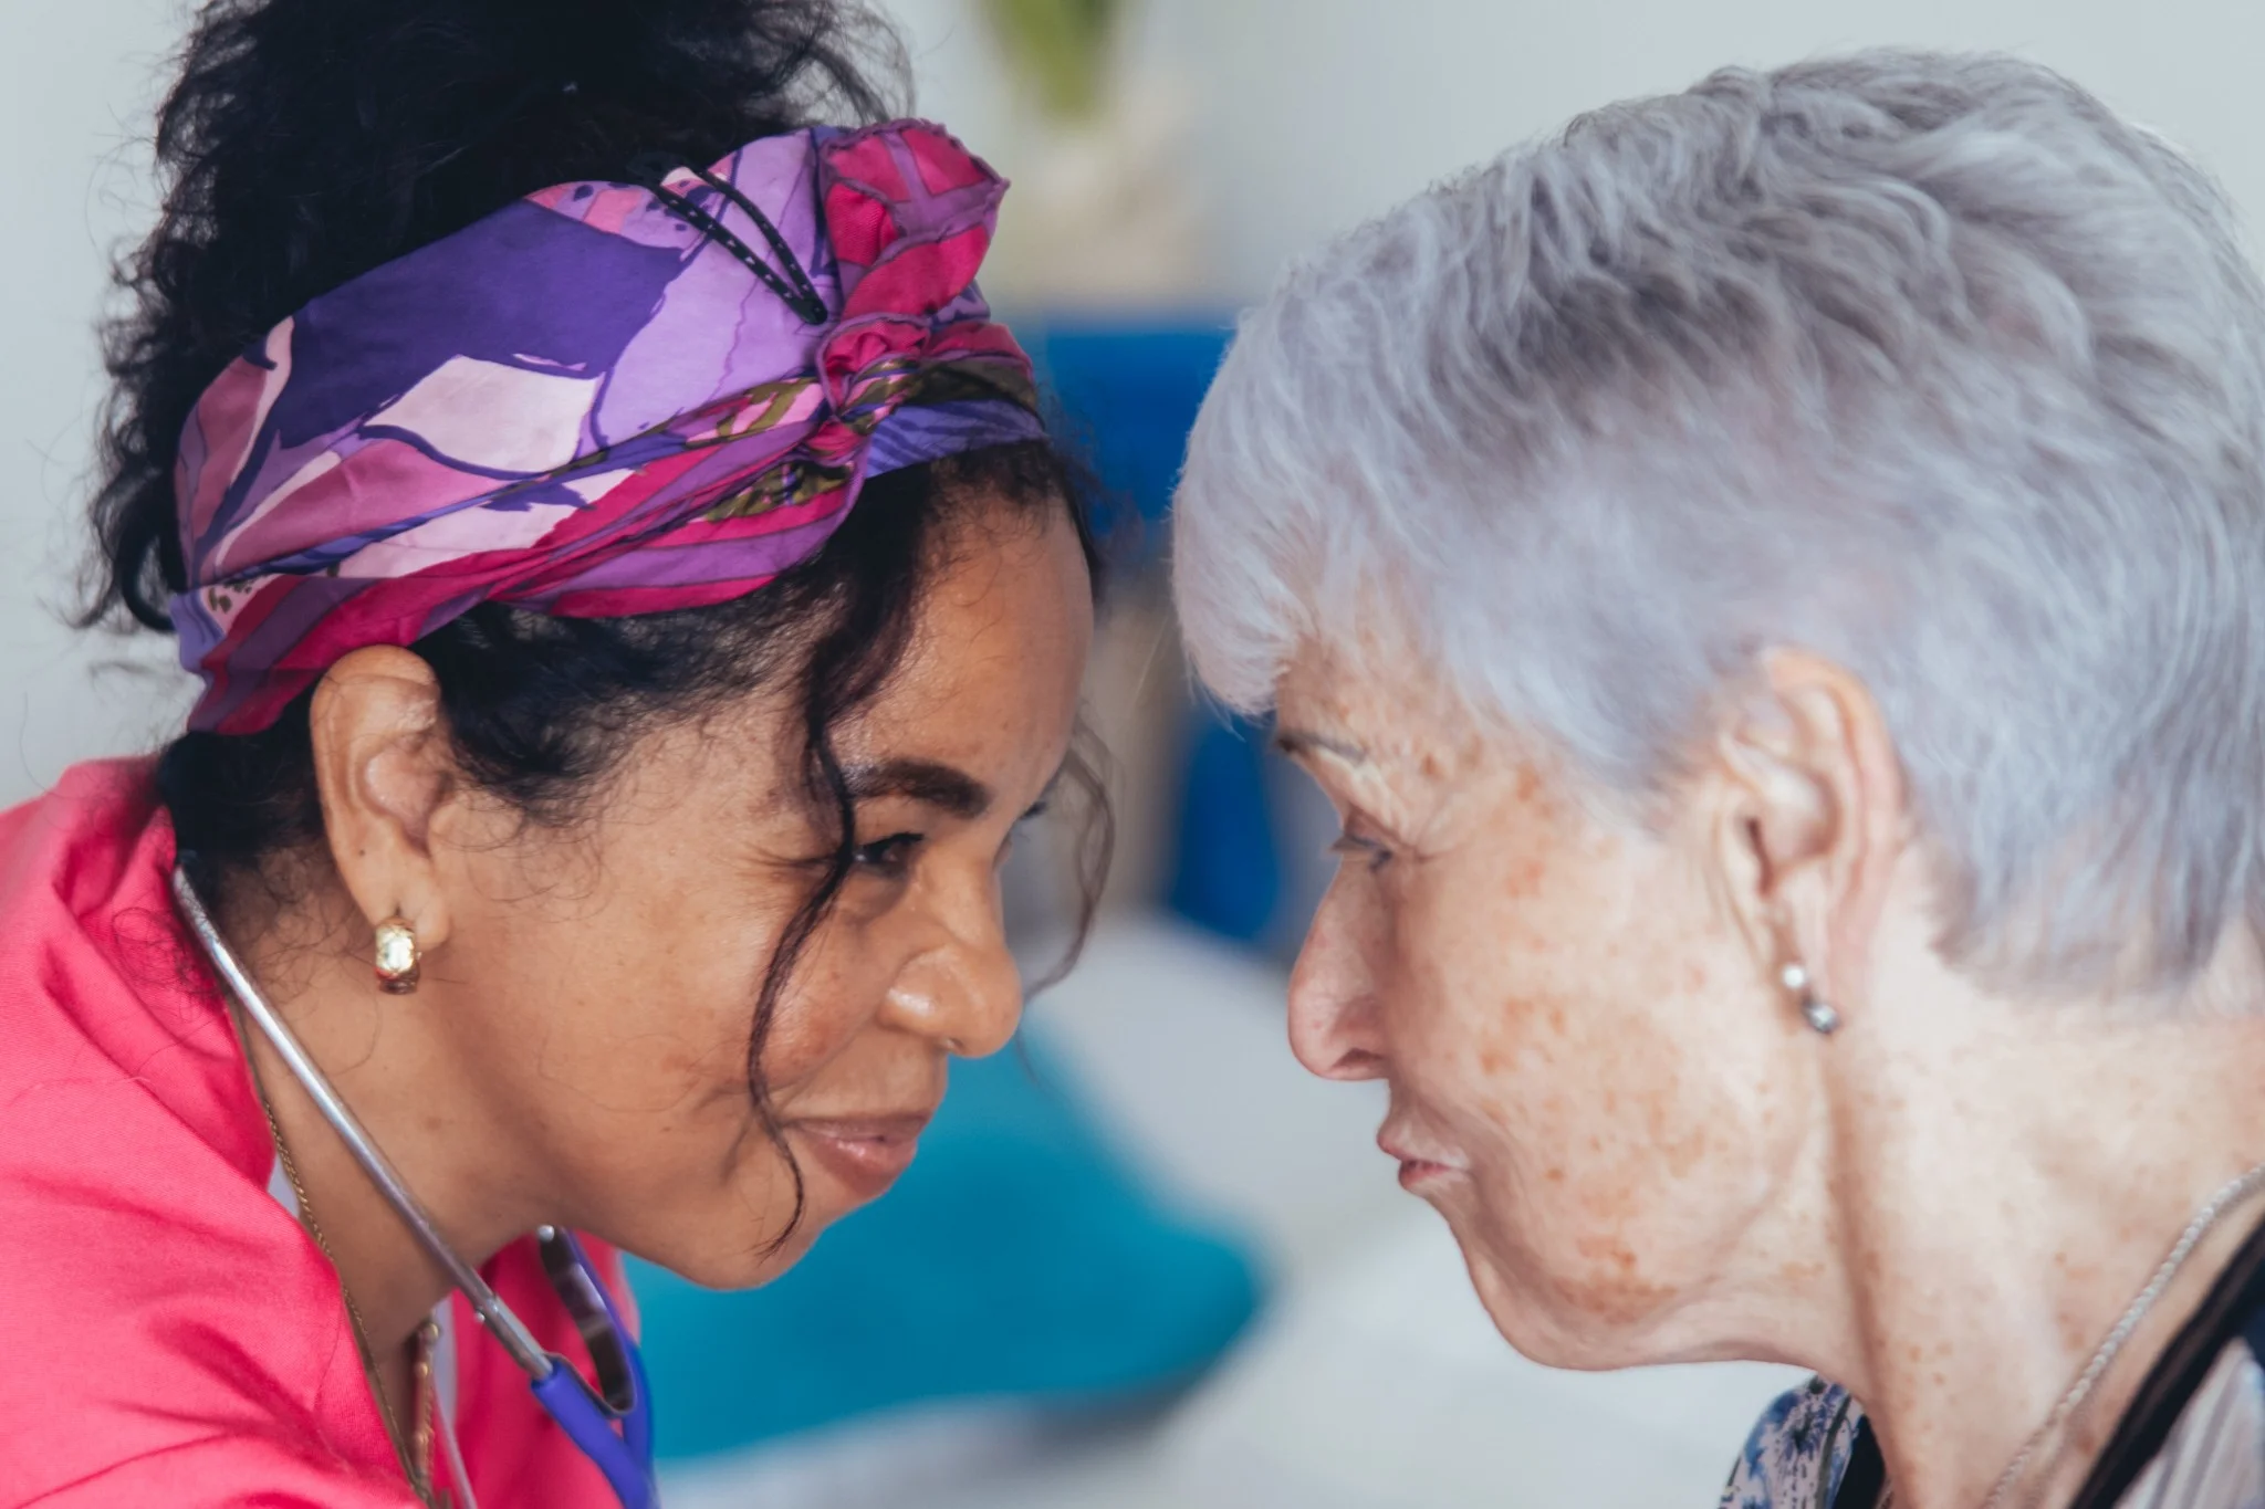
{"type": "Polygon", "coordinates": [[[820,127],[546,188],[315,299],[181,434],[190,728],[265,728],[480,602],[738,597],[865,477],[1037,439],[974,285],[1003,192],[938,127],[820,127]]]}

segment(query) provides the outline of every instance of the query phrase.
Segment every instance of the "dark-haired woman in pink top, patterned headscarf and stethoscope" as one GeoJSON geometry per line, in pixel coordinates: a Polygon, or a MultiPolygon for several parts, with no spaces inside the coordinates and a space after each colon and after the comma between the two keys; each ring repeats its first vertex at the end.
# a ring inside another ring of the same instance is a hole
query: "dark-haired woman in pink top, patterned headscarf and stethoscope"
{"type": "Polygon", "coordinates": [[[1012,1034],[1094,552],[854,20],[199,11],[95,523],[202,697],[0,817],[0,1502],[646,1504],[614,1253],[761,1283],[1012,1034]]]}

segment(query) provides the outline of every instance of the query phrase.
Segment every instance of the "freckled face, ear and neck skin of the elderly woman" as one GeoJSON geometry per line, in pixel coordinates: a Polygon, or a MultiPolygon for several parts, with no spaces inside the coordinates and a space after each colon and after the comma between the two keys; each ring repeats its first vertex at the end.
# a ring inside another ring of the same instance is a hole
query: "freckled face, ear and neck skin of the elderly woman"
{"type": "MultiPolygon", "coordinates": [[[[1939,948],[1939,851],[1862,683],[1769,652],[1749,692],[1633,817],[1386,631],[1298,645],[1280,726],[1348,837],[1291,1047],[1388,1084],[1379,1140],[1522,1353],[1810,1366],[1862,1400],[1898,1509],[1973,1509],[2193,1210],[2265,1163],[2265,950],[2231,928],[2170,1002],[1982,980],[1939,948]]],[[[2038,1502],[2260,1204],[2195,1249],[2038,1502]]]]}

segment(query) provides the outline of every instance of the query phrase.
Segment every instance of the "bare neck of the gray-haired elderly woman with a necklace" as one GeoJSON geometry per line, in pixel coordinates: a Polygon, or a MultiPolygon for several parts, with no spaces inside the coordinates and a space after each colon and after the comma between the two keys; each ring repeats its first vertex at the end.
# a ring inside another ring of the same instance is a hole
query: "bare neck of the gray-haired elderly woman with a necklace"
{"type": "MultiPolygon", "coordinates": [[[[2265,1018],[1932,984],[1830,1045],[1826,1199],[1848,1303],[1817,1362],[1864,1403],[1898,1509],[1973,1509],[2197,1210],[2265,1163],[2265,1018]]],[[[2224,1210],[2084,1409],[2036,1441],[2011,1502],[2041,1486],[2036,1502],[2068,1502],[2260,1215],[2260,1199],[2224,1210]]]]}

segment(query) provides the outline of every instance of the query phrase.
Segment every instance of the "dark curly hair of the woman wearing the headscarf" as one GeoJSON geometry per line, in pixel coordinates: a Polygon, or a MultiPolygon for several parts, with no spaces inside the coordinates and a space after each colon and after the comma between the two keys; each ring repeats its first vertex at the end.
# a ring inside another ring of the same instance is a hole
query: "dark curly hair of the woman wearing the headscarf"
{"type": "MultiPolygon", "coordinates": [[[[127,312],[104,330],[84,622],[170,631],[181,428],[299,305],[532,190],[632,179],[641,154],[711,163],[820,115],[883,118],[901,75],[892,34],[847,0],[206,0],[156,118],[159,224],[120,265],[127,312]]],[[[1067,511],[1099,586],[1087,495],[1053,446],[994,446],[872,480],[824,550],[736,602],[616,620],[482,604],[412,645],[467,778],[539,824],[573,821],[641,733],[779,679],[800,690],[806,796],[834,855],[757,1002],[747,1079],[766,1120],[770,1018],[856,855],[831,728],[901,661],[938,536],[976,500],[1067,511]]],[[[179,848],[222,903],[245,885],[279,896],[272,862],[319,853],[310,697],[272,728],[186,733],[159,758],[179,848]]],[[[1083,753],[1067,774],[1089,799],[1089,921],[1108,812],[1083,753]]]]}

